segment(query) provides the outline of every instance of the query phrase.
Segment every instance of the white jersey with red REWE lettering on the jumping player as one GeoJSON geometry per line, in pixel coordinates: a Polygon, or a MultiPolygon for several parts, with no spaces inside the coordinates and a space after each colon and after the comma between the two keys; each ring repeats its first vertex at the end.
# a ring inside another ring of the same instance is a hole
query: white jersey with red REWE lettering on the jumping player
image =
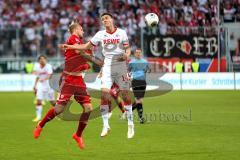
{"type": "Polygon", "coordinates": [[[94,46],[101,43],[103,48],[102,53],[105,57],[104,65],[120,63],[117,59],[125,53],[124,46],[129,44],[126,31],[120,28],[116,28],[112,33],[106,30],[98,31],[90,40],[90,43],[94,46]]]}

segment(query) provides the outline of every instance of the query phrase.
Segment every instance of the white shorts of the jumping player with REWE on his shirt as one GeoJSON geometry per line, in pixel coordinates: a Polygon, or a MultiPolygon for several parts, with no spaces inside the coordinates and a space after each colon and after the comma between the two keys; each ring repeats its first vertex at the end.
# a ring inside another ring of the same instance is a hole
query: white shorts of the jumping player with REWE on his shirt
{"type": "Polygon", "coordinates": [[[107,88],[110,90],[114,82],[119,86],[120,90],[130,89],[131,81],[126,63],[103,66],[101,88],[107,88]]]}

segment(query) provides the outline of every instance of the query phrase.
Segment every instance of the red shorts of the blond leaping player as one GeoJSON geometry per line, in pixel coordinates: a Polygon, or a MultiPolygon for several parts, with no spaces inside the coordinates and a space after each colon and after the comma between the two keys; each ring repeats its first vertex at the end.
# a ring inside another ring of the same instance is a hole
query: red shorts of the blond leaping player
{"type": "Polygon", "coordinates": [[[60,95],[58,105],[66,105],[72,95],[79,104],[91,103],[90,95],[82,76],[62,74],[60,80],[60,95]]]}

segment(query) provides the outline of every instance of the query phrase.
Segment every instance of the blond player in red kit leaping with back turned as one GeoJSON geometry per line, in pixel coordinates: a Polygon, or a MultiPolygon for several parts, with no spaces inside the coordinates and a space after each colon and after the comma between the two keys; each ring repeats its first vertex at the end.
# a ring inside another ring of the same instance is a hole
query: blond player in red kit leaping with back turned
{"type": "MultiPolygon", "coordinates": [[[[67,40],[67,44],[83,44],[83,29],[79,23],[72,23],[69,26],[71,36],[67,40]]],[[[81,51],[83,52],[83,51],[81,51]]],[[[86,53],[86,51],[84,51],[86,53]]],[[[60,82],[60,94],[54,108],[50,109],[45,117],[38,123],[34,129],[34,138],[38,138],[44,125],[54,119],[55,116],[62,113],[69,102],[71,96],[74,95],[75,100],[83,107],[83,113],[79,117],[79,124],[76,133],[72,138],[78,143],[80,149],[84,148],[83,130],[87,125],[88,118],[92,111],[90,95],[87,92],[86,84],[82,77],[84,70],[90,68],[87,60],[79,54],[79,51],[67,49],[65,51],[65,67],[60,82]]]]}

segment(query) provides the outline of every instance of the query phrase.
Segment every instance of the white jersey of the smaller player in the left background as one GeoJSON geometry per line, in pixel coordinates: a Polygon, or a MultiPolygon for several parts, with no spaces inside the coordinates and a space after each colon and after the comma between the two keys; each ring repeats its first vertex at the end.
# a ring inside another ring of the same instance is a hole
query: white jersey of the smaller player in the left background
{"type": "Polygon", "coordinates": [[[37,88],[38,89],[50,89],[49,80],[44,80],[44,79],[53,73],[52,66],[47,63],[44,67],[41,67],[41,65],[39,63],[36,63],[34,65],[33,72],[39,78],[37,88]],[[43,80],[43,81],[41,82],[41,80],[43,80]]]}

